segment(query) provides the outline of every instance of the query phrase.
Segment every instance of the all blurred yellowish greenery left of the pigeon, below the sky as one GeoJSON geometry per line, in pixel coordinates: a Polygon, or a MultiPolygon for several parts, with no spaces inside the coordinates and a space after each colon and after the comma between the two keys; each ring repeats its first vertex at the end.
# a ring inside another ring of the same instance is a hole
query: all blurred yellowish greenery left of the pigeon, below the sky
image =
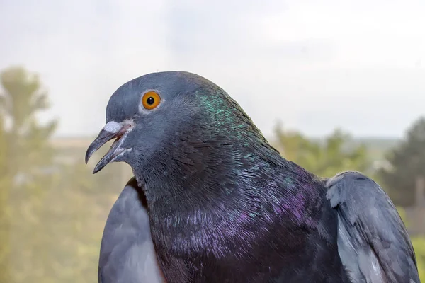
{"type": "Polygon", "coordinates": [[[96,282],[119,166],[93,176],[85,148],[52,146],[57,122],[38,122],[48,108],[38,76],[11,67],[0,81],[0,283],[96,282]]]}

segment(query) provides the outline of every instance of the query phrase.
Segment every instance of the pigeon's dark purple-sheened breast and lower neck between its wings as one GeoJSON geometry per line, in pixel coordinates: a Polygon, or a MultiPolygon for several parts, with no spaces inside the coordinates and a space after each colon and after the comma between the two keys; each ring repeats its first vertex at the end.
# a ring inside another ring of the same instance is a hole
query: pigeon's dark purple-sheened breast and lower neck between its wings
{"type": "Polygon", "coordinates": [[[241,150],[234,173],[221,165],[215,183],[147,190],[169,282],[348,282],[324,184],[270,147],[270,156],[241,150]]]}

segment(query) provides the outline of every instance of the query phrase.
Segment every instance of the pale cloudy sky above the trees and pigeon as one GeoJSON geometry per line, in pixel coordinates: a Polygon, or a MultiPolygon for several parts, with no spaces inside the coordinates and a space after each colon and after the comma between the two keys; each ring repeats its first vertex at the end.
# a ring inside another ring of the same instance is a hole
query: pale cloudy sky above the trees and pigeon
{"type": "Polygon", "coordinates": [[[270,136],[402,137],[425,114],[423,0],[1,0],[0,69],[40,74],[58,136],[92,136],[155,71],[225,89],[270,136]]]}

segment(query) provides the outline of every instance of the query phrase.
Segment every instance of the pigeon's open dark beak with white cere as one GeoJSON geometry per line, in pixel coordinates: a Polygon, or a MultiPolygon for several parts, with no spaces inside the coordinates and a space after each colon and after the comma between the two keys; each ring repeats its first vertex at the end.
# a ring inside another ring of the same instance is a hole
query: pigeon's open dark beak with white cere
{"type": "Polygon", "coordinates": [[[94,168],[93,173],[98,173],[101,171],[103,167],[105,167],[108,163],[111,163],[119,156],[123,154],[127,149],[123,149],[121,145],[125,141],[128,133],[131,131],[133,127],[132,121],[126,120],[124,122],[108,122],[105,127],[98,134],[96,139],[90,144],[89,148],[86,151],[86,163],[89,161],[89,158],[95,151],[101,148],[103,144],[106,144],[111,139],[115,139],[113,142],[111,149],[103,156],[101,161],[99,161],[94,168]]]}

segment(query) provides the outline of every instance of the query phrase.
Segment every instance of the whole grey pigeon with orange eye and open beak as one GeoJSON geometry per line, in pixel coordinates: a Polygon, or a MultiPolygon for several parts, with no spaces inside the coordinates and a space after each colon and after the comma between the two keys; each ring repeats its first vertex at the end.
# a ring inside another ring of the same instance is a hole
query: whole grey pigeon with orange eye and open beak
{"type": "Polygon", "coordinates": [[[101,283],[420,282],[375,181],[286,160],[202,76],[164,71],[120,86],[86,163],[111,140],[94,173],[125,162],[134,177],[106,221],[101,283]]]}

